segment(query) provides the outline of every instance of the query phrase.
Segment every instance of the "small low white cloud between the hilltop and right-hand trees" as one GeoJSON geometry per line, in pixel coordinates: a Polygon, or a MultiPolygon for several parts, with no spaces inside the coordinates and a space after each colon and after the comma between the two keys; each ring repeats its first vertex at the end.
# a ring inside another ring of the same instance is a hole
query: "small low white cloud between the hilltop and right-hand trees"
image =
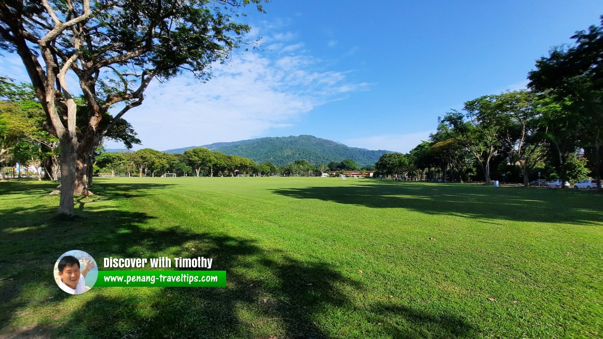
{"type": "Polygon", "coordinates": [[[415,148],[435,130],[420,131],[406,134],[384,134],[364,138],[348,139],[344,144],[352,147],[368,148],[369,150],[388,150],[406,153],[415,148]]]}

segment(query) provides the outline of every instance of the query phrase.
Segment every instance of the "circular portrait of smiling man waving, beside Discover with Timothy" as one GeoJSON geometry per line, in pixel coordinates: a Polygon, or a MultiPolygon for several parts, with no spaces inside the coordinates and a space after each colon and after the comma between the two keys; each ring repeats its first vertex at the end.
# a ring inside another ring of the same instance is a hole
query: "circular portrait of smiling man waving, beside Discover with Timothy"
{"type": "Polygon", "coordinates": [[[65,252],[54,263],[54,281],[65,293],[86,293],[96,284],[97,277],[96,261],[84,251],[65,252]]]}

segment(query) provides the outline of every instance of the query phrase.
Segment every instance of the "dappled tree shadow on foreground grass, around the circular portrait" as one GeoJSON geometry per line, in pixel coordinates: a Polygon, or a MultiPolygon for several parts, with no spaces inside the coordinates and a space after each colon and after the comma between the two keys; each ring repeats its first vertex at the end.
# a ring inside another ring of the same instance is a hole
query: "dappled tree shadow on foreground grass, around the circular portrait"
{"type": "MultiPolygon", "coordinates": [[[[202,224],[162,227],[142,212],[96,207],[67,221],[49,217],[54,211],[48,208],[18,212],[28,226],[0,227],[0,337],[412,337],[415,332],[470,337],[476,333],[452,315],[444,317],[454,320],[442,323],[442,317],[402,306],[358,309],[350,291],[365,293],[364,285],[332,265],[265,249],[254,239],[208,233],[202,224]],[[212,270],[226,270],[228,285],[97,287],[82,296],[69,296],[52,279],[52,266],[71,249],[95,256],[101,269],[102,258],[108,256],[213,258],[212,270]],[[39,318],[32,325],[14,325],[27,312],[42,315],[36,315],[39,318]],[[377,326],[377,319],[388,312],[399,314],[410,327],[377,326]],[[349,321],[357,328],[345,327],[349,321]]],[[[5,215],[0,223],[2,218],[5,215]]]]}

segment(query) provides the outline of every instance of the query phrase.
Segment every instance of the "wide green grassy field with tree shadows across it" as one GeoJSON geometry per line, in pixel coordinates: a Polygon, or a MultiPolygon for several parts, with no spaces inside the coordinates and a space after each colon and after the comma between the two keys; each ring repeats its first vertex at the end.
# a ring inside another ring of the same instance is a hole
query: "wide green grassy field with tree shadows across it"
{"type": "Polygon", "coordinates": [[[95,178],[97,195],[64,221],[54,186],[0,183],[0,337],[603,336],[593,192],[95,178]],[[228,285],[69,296],[52,266],[72,249],[101,270],[109,256],[205,256],[228,285]]]}

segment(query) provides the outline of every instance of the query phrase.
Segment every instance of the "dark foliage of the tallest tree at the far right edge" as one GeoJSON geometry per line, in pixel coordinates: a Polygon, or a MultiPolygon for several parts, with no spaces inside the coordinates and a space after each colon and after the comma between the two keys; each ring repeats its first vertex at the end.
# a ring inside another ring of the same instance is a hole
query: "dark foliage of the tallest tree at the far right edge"
{"type": "MultiPolygon", "coordinates": [[[[603,16],[599,26],[578,31],[569,47],[558,46],[537,60],[528,86],[545,93],[562,109],[549,110],[552,142],[558,148],[563,170],[571,148],[581,147],[601,178],[603,168],[603,16]]],[[[569,161],[569,159],[567,159],[569,161]]],[[[562,175],[563,176],[563,175],[562,175]]],[[[599,187],[600,188],[600,187],[599,187]]]]}

